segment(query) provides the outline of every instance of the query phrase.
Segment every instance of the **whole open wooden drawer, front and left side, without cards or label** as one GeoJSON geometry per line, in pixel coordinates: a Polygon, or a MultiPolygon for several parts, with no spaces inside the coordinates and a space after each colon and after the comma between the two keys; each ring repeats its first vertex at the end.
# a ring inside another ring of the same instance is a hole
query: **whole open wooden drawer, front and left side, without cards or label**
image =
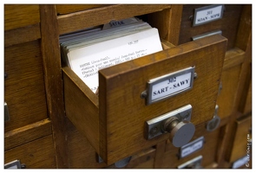
{"type": "Polygon", "coordinates": [[[108,165],[168,138],[144,138],[144,123],[190,104],[191,122],[213,118],[226,53],[226,38],[209,36],[99,71],[99,96],[69,68],[62,67],[66,115],[108,165]],[[190,90],[147,105],[148,80],[194,67],[190,90]]]}

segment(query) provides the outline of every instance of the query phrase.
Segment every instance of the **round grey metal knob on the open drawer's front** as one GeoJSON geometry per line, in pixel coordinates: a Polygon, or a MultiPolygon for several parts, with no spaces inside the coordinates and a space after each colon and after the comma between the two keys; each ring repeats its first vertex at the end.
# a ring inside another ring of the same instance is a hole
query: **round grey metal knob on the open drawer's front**
{"type": "Polygon", "coordinates": [[[187,120],[180,121],[177,117],[167,119],[163,129],[170,133],[170,140],[175,147],[187,144],[194,136],[195,131],[195,127],[191,122],[187,120]]]}

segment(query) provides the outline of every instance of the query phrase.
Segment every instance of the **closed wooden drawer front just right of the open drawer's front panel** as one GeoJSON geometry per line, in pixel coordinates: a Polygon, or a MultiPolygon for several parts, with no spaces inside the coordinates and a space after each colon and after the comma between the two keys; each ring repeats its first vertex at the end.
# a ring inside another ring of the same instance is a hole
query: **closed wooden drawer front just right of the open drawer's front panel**
{"type": "Polygon", "coordinates": [[[244,59],[245,52],[239,48],[233,48],[226,52],[220,79],[221,88],[217,99],[220,119],[230,116],[233,112],[244,59]]]}

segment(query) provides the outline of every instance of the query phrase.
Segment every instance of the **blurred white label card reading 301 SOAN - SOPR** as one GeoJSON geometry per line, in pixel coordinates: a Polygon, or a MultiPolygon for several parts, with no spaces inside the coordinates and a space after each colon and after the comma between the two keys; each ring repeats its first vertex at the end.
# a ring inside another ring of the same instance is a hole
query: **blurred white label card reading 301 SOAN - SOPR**
{"type": "Polygon", "coordinates": [[[193,26],[219,20],[223,16],[224,5],[209,5],[194,10],[193,26]]]}

